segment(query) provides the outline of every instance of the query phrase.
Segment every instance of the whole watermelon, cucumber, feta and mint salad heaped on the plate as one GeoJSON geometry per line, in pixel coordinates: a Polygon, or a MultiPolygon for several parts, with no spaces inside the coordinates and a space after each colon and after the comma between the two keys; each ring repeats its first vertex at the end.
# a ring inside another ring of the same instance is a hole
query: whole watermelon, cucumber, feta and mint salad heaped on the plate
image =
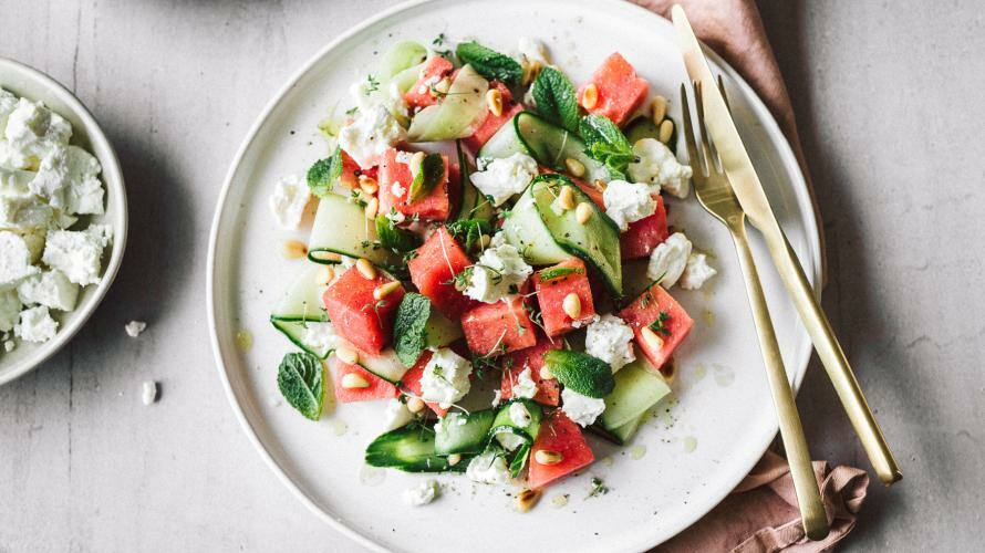
{"type": "Polygon", "coordinates": [[[692,170],[623,55],[577,86],[536,40],[432,45],[393,45],[319,124],[326,156],[276,184],[280,225],[311,226],[270,317],[297,346],[278,386],[313,420],[325,395],[379,403],[372,467],[529,508],[595,460],[585,432],[626,444],[670,394],[693,325],[672,292],[716,271],[667,225],[692,170]]]}

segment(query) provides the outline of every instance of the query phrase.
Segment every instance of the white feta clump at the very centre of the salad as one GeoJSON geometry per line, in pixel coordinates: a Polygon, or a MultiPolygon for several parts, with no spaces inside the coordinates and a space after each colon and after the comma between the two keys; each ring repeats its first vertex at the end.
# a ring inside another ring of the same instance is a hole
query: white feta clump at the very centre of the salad
{"type": "Polygon", "coordinates": [[[480,302],[496,303],[517,293],[533,268],[527,264],[515,246],[506,243],[506,238],[499,232],[492,237],[470,272],[465,295],[480,302]]]}

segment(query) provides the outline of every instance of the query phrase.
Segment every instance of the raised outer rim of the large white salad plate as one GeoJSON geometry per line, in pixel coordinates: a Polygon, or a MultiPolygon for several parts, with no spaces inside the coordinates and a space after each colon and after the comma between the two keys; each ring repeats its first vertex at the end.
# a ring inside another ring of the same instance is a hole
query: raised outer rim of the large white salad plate
{"type": "MultiPolygon", "coordinates": [[[[222,222],[224,210],[228,200],[228,195],[230,188],[232,186],[232,179],[241,165],[243,157],[246,156],[247,150],[251,147],[252,143],[256,140],[257,135],[260,132],[260,128],[263,126],[270,114],[277,108],[283,97],[298,84],[298,82],[304,77],[304,75],[318,64],[322,58],[328,55],[332,50],[338,48],[343,42],[352,39],[359,33],[363,32],[365,29],[372,27],[373,24],[388,19],[393,15],[398,14],[400,12],[416,8],[422,4],[427,3],[437,3],[443,0],[406,0],[404,2],[400,2],[394,4],[370,18],[366,18],[359,23],[354,24],[346,31],[342,32],[333,40],[329,41],[324,46],[319,49],[314,54],[312,54],[297,71],[294,71],[291,76],[286,81],[286,83],[273,94],[270,101],[263,106],[260,114],[253,121],[252,125],[250,125],[249,131],[246,134],[242,143],[237,149],[232,161],[230,163],[229,169],[227,170],[226,177],[222,181],[222,188],[219,192],[219,197],[216,204],[216,210],[212,216],[211,229],[209,231],[209,248],[208,248],[208,259],[207,259],[207,268],[206,268],[206,309],[208,315],[209,323],[209,337],[212,347],[212,354],[216,361],[216,369],[219,373],[219,378],[222,383],[222,388],[226,392],[226,398],[232,407],[232,411],[239,420],[239,424],[243,431],[247,435],[249,441],[257,449],[261,459],[263,459],[265,463],[273,471],[274,476],[283,483],[291,493],[301,501],[318,519],[326,522],[330,526],[332,526],[335,531],[341,534],[348,536],[353,540],[357,544],[367,547],[373,551],[386,551],[386,549],[374,541],[372,538],[363,534],[352,525],[342,520],[335,519],[331,517],[328,512],[325,512],[322,508],[320,508],[296,482],[294,480],[284,471],[284,469],[273,459],[273,457],[268,451],[267,447],[260,440],[256,430],[253,429],[250,420],[247,419],[246,414],[240,406],[239,399],[236,396],[236,392],[232,389],[232,384],[229,377],[229,368],[226,366],[225,359],[222,358],[221,346],[219,343],[218,336],[218,327],[216,323],[216,250],[218,247],[218,234],[219,228],[222,222]]],[[[597,0],[598,2],[606,3],[612,8],[618,8],[633,12],[635,11],[640,17],[654,18],[654,20],[662,21],[663,23],[671,24],[668,20],[661,17],[660,14],[652,12],[639,4],[628,2],[625,0],[597,0]]],[[[661,23],[662,24],[662,23],[661,23]]],[[[754,111],[757,121],[763,124],[766,128],[767,134],[778,137],[777,140],[777,154],[782,159],[784,164],[787,167],[794,167],[796,170],[792,171],[792,181],[786,185],[787,188],[792,189],[794,199],[796,200],[796,205],[803,217],[803,222],[806,226],[806,241],[809,248],[809,252],[805,252],[805,255],[809,255],[811,261],[811,271],[810,271],[810,281],[811,288],[815,291],[815,295],[820,300],[821,295],[821,243],[820,243],[820,234],[817,226],[816,212],[813,209],[813,205],[810,200],[809,188],[807,184],[807,179],[803,175],[803,168],[797,161],[797,158],[794,154],[792,147],[790,146],[789,139],[782,133],[777,123],[774,115],[766,107],[766,104],[756,93],[756,91],[746,82],[746,80],[730,65],[728,64],[722,56],[715,53],[709,46],[702,43],[704,48],[705,54],[709,58],[711,61],[717,69],[725,73],[732,81],[737,85],[746,97],[749,98],[749,106],[754,111]]],[[[801,328],[801,334],[807,335],[806,331],[801,328]]],[[[808,341],[809,343],[809,341],[808,341]]],[[[805,352],[800,355],[800,358],[797,363],[797,372],[794,375],[794,392],[795,394],[799,390],[800,384],[803,382],[803,377],[807,373],[807,367],[810,361],[810,357],[813,353],[812,347],[805,348],[805,352]]],[[[691,525],[693,525],[697,520],[705,517],[708,512],[712,511],[717,504],[722,502],[734,489],[738,486],[739,482],[749,473],[749,471],[755,467],[756,462],[758,462],[759,458],[766,452],[769,447],[769,444],[773,441],[775,436],[778,432],[778,424],[770,425],[768,431],[764,434],[764,436],[759,437],[758,444],[761,447],[757,446],[755,448],[758,451],[755,459],[751,462],[747,463],[736,463],[737,467],[745,467],[743,470],[736,471],[736,474],[733,474],[733,478],[725,479],[730,482],[729,486],[723,487],[720,493],[711,494],[715,498],[714,502],[706,505],[706,508],[702,508],[695,510],[695,514],[688,518],[682,519],[682,523],[677,524],[676,529],[673,530],[673,533],[666,535],[665,538],[653,538],[651,535],[644,535],[643,540],[634,543],[634,547],[636,549],[650,549],[660,543],[670,540],[674,535],[677,535],[682,531],[686,530],[691,525]],[[657,542],[653,543],[653,540],[656,539],[657,542]]]]}

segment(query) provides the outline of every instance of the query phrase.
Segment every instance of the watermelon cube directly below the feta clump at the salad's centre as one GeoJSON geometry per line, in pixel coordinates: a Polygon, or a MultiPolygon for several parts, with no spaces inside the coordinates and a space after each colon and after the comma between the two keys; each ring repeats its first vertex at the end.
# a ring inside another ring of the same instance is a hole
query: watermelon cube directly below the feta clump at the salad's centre
{"type": "Polygon", "coordinates": [[[483,303],[462,317],[468,348],[477,355],[500,355],[537,344],[533,322],[521,296],[483,303]]]}

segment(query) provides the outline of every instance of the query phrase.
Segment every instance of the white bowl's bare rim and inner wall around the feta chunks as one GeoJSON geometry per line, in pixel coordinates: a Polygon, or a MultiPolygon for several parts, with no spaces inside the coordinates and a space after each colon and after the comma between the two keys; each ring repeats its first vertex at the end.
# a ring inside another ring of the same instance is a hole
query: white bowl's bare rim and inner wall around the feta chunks
{"type": "Polygon", "coordinates": [[[72,124],[71,144],[89,150],[103,166],[101,178],[106,187],[106,212],[92,217],[91,221],[113,228],[113,249],[108,255],[103,254],[103,279],[97,285],[82,289],[74,311],[53,314],[59,321],[59,332],[54,338],[43,344],[21,342],[13,352],[0,354],[2,386],[30,372],[68,344],[103,301],[123,261],[127,219],[126,188],[123,186],[123,173],[120,170],[116,153],[82,102],[44,73],[6,58],[0,58],[0,87],[34,102],[44,102],[52,111],[69,119],[72,124]]]}

